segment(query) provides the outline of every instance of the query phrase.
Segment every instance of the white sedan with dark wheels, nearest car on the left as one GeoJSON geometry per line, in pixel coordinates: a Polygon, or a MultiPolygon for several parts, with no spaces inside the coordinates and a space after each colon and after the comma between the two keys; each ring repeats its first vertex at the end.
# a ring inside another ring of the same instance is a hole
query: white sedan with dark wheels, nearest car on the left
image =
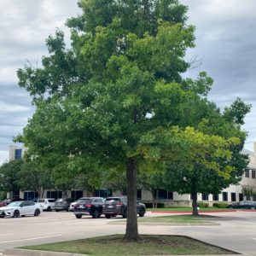
{"type": "Polygon", "coordinates": [[[40,207],[33,201],[13,201],[7,207],[0,207],[0,217],[13,217],[33,215],[41,213],[40,207]]]}

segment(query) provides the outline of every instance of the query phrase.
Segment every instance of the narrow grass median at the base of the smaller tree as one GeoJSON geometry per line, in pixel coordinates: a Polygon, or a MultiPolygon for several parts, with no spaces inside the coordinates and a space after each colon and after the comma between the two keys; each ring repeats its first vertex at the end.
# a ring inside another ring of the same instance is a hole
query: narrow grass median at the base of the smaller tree
{"type": "Polygon", "coordinates": [[[206,223],[209,218],[216,218],[209,215],[193,216],[193,215],[175,215],[175,216],[159,216],[150,218],[138,218],[138,222],[150,222],[150,223],[206,223]]]}

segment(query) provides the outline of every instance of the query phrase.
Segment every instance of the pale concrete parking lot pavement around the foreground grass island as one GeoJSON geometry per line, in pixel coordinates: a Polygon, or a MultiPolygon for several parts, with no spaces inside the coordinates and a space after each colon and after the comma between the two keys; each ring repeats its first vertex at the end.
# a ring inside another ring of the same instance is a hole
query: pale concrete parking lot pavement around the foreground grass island
{"type": "MultiPolygon", "coordinates": [[[[163,215],[147,212],[146,216],[163,215]]],[[[165,214],[167,215],[167,214],[165,214]]],[[[191,236],[239,253],[256,255],[256,212],[218,212],[211,215],[214,226],[149,226],[139,225],[140,234],[191,236]]],[[[43,212],[39,217],[0,218],[0,252],[5,248],[68,241],[93,236],[124,234],[122,218],[83,217],[72,212],[43,212]]]]}

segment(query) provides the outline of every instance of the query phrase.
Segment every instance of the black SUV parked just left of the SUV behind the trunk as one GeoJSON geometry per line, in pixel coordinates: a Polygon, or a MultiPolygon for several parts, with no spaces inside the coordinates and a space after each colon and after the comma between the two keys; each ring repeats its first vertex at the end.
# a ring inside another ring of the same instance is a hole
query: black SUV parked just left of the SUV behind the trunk
{"type": "Polygon", "coordinates": [[[105,198],[102,197],[80,198],[73,207],[73,213],[76,218],[82,218],[82,215],[91,215],[92,218],[100,218],[104,201],[105,198]]]}

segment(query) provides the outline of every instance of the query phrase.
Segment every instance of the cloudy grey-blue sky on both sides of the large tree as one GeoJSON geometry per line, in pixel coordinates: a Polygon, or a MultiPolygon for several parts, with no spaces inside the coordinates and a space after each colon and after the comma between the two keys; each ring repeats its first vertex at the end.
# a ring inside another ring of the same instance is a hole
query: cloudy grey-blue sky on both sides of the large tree
{"type": "MultiPolygon", "coordinates": [[[[1,0],[0,1],[0,164],[9,159],[9,145],[32,117],[31,98],[17,84],[16,70],[26,61],[47,55],[45,38],[67,18],[80,10],[76,0],[1,0]]],[[[196,26],[197,56],[201,65],[189,71],[195,77],[201,70],[214,79],[210,99],[220,108],[239,96],[253,105],[244,129],[245,148],[256,142],[256,1],[181,0],[189,6],[189,24],[196,26]]]]}

